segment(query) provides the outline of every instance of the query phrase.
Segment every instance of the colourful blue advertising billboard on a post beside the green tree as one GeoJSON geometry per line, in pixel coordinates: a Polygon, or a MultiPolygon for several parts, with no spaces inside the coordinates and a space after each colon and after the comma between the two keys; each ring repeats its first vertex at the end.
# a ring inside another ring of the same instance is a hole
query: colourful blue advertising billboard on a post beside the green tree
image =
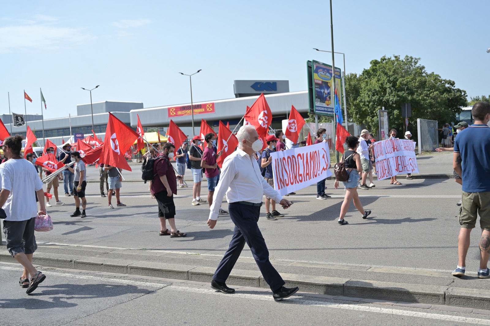
{"type": "MultiPolygon", "coordinates": [[[[332,87],[332,66],[319,61],[311,61],[312,83],[309,91],[313,94],[313,109],[314,113],[323,116],[334,116],[334,90],[332,87]]],[[[339,104],[342,107],[342,79],[341,70],[335,68],[335,88],[339,104]]]]}

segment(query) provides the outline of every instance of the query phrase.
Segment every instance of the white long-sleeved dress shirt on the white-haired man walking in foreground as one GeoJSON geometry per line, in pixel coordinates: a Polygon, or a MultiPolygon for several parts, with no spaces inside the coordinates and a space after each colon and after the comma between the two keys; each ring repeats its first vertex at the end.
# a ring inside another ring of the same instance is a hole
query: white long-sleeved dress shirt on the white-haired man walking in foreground
{"type": "Polygon", "coordinates": [[[220,182],[216,187],[210,208],[210,220],[218,220],[221,201],[225,193],[228,202],[260,203],[264,194],[276,202],[283,199],[261,175],[257,160],[241,149],[237,149],[224,159],[220,182]]]}

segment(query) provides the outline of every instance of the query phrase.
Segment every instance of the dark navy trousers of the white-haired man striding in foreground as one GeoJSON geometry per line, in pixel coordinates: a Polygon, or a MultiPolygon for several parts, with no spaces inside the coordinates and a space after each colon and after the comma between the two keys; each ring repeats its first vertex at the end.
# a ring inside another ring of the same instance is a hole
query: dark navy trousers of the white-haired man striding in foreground
{"type": "Polygon", "coordinates": [[[231,202],[228,208],[230,218],[235,224],[235,231],[213,279],[226,282],[246,242],[270,289],[272,291],[280,289],[285,282],[269,261],[269,250],[257,225],[260,207],[231,202]]]}

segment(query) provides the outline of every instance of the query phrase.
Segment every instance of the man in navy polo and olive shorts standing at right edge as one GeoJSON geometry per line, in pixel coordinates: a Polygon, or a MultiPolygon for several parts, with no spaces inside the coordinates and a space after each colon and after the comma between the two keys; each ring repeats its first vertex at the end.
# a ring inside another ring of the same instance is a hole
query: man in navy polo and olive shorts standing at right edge
{"type": "Polygon", "coordinates": [[[463,194],[459,213],[459,259],[452,275],[465,275],[469,234],[476,225],[477,216],[480,215],[482,236],[478,277],[489,278],[490,270],[487,263],[490,255],[490,103],[477,102],[473,105],[471,114],[475,123],[458,133],[454,142],[453,168],[463,181],[463,194]]]}

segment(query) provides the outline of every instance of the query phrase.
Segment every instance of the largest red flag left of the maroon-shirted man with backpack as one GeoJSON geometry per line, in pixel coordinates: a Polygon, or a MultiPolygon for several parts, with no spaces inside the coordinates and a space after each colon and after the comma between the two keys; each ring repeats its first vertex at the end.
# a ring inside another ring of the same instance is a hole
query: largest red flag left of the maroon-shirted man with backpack
{"type": "Polygon", "coordinates": [[[100,163],[131,171],[124,153],[138,138],[136,131],[125,125],[109,112],[109,121],[105,131],[105,141],[100,154],[100,163]]]}

